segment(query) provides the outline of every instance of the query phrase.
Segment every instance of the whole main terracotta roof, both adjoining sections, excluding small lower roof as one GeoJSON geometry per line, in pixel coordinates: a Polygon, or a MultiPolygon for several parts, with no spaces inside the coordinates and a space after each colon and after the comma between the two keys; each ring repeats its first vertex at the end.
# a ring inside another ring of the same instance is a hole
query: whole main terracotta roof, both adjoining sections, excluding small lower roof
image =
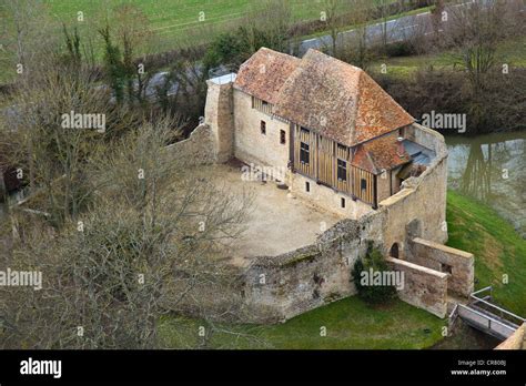
{"type": "Polygon", "coordinates": [[[348,146],[414,122],[363,70],[316,50],[299,60],[263,48],[234,85],[273,103],[277,115],[348,146]]]}

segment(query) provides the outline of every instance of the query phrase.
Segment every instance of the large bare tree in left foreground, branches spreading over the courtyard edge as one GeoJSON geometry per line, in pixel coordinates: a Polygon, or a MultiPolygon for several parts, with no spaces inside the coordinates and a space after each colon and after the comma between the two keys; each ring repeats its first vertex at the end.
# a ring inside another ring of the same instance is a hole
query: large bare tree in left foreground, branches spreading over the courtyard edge
{"type": "Polygon", "coordinates": [[[40,291],[0,290],[3,347],[159,347],[163,314],[201,309],[203,291],[232,280],[221,252],[250,201],[189,170],[164,146],[171,135],[164,123],[145,124],[93,158],[87,176],[98,194],[60,232],[17,222],[22,237],[6,266],[44,281],[40,291]]]}

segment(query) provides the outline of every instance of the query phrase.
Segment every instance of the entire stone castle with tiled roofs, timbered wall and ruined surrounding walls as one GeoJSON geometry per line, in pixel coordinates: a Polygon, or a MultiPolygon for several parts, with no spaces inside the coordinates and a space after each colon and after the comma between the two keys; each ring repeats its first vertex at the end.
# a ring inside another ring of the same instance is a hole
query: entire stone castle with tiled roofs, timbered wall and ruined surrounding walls
{"type": "Polygon", "coordinates": [[[368,241],[404,272],[403,301],[444,317],[451,295],[469,295],[474,256],[443,245],[444,139],[363,70],[315,50],[297,59],[262,48],[208,83],[204,123],[180,151],[272,173],[283,200],[337,217],[304,245],[240,268],[251,319],[284,321],[354,294],[351,271],[368,241]]]}

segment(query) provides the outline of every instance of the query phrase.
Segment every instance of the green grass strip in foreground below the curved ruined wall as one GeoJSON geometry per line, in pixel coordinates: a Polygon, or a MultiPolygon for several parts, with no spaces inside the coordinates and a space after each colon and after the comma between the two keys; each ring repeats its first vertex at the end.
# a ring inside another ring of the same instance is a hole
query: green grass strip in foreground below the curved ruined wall
{"type": "MultiPolygon", "coordinates": [[[[210,339],[210,348],[424,348],[442,338],[444,321],[401,301],[372,307],[348,297],[271,326],[220,325],[223,333],[210,339]],[[321,336],[321,328],[326,336],[321,336]]],[[[202,343],[200,323],[166,318],[161,336],[166,347],[195,347],[202,343]]],[[[218,326],[216,326],[218,327],[218,326]]]]}

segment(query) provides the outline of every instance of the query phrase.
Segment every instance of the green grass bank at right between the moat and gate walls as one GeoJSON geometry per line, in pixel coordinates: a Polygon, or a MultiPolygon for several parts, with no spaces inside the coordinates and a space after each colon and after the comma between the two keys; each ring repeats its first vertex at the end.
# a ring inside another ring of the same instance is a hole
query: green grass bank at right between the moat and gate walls
{"type": "Polygon", "coordinates": [[[447,245],[475,255],[476,288],[493,285],[497,304],[526,316],[526,241],[494,210],[453,191],[447,223],[447,245]]]}

